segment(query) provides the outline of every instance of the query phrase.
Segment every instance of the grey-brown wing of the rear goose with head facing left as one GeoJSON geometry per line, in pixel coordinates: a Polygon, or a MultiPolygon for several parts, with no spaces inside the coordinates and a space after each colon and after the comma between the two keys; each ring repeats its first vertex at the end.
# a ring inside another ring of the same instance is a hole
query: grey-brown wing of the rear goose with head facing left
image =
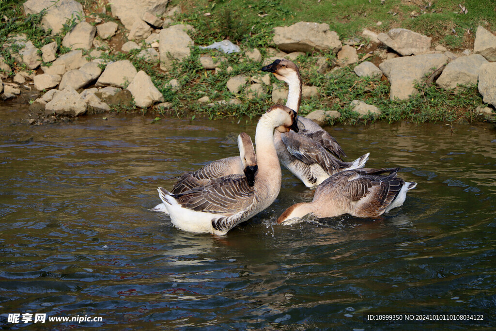
{"type": "Polygon", "coordinates": [[[334,157],[320,143],[310,137],[296,132],[281,135],[287,150],[306,164],[319,164],[327,173],[334,174],[346,168],[347,164],[334,157]]]}

